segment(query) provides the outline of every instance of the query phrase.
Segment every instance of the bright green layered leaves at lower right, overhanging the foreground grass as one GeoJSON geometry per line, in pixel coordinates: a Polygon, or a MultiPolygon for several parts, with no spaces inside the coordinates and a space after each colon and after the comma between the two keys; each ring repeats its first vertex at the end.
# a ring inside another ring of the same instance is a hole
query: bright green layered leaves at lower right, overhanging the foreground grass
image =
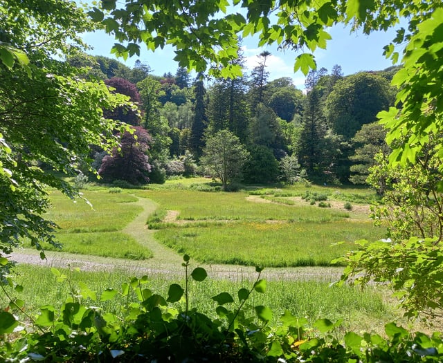
{"type": "Polygon", "coordinates": [[[342,281],[362,285],[370,281],[388,283],[406,316],[442,315],[443,252],[435,239],[411,237],[398,243],[390,239],[358,243],[359,250],[336,260],[347,263],[342,281]]]}

